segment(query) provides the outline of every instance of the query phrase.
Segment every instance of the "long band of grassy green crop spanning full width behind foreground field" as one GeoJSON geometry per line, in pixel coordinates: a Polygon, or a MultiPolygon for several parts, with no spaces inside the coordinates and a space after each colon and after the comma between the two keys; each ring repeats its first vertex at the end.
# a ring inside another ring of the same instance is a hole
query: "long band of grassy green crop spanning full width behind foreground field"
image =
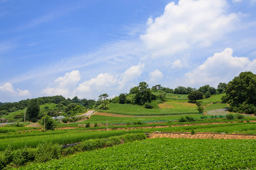
{"type": "MultiPolygon", "coordinates": [[[[129,127],[129,126],[127,126],[129,127]]],[[[167,128],[150,128],[150,129],[134,129],[112,130],[112,131],[84,131],[86,128],[73,130],[57,130],[48,133],[40,134],[20,134],[20,135],[5,135],[0,138],[0,151],[5,150],[8,145],[12,148],[36,147],[39,143],[57,143],[65,145],[67,143],[82,142],[88,139],[108,138],[116,135],[127,133],[150,133],[151,131],[166,131],[166,132],[213,132],[213,133],[244,133],[256,134],[256,122],[243,122],[233,124],[210,124],[210,125],[193,125],[193,126],[170,126],[167,128]],[[79,131],[78,131],[79,130],[79,131]]]]}

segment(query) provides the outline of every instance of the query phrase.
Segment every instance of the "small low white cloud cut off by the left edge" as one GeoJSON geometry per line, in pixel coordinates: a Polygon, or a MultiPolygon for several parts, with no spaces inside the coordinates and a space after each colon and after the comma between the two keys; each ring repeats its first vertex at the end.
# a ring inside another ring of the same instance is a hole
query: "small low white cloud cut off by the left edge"
{"type": "Polygon", "coordinates": [[[31,97],[31,94],[28,90],[15,89],[13,84],[5,83],[3,86],[0,86],[0,101],[1,102],[10,102],[16,100],[23,100],[31,97]]]}

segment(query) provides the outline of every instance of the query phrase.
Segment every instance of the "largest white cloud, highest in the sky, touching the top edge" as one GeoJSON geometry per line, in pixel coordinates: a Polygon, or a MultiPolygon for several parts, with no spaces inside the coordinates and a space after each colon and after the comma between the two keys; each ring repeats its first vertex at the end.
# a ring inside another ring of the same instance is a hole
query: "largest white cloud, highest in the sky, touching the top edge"
{"type": "Polygon", "coordinates": [[[234,29],[239,19],[228,14],[224,0],[180,0],[169,3],[164,14],[147,21],[141,40],[152,56],[168,56],[192,46],[209,46],[234,29]]]}

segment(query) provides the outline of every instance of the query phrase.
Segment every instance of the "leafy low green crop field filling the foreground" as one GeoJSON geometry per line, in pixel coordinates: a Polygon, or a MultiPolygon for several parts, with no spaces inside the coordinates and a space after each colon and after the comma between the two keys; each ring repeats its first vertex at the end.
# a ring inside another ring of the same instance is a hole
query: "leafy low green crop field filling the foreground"
{"type": "Polygon", "coordinates": [[[155,138],[19,169],[254,169],[254,140],[155,138]]]}

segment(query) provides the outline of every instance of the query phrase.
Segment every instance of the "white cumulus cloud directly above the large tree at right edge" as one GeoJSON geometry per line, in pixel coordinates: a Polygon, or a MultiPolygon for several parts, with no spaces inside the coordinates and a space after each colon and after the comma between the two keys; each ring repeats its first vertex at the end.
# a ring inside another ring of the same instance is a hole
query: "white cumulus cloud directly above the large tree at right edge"
{"type": "Polygon", "coordinates": [[[217,87],[220,82],[228,83],[242,71],[256,72],[256,59],[248,57],[233,57],[233,50],[226,48],[223,52],[215,53],[196,69],[184,75],[189,86],[204,86],[210,84],[217,87]]]}

